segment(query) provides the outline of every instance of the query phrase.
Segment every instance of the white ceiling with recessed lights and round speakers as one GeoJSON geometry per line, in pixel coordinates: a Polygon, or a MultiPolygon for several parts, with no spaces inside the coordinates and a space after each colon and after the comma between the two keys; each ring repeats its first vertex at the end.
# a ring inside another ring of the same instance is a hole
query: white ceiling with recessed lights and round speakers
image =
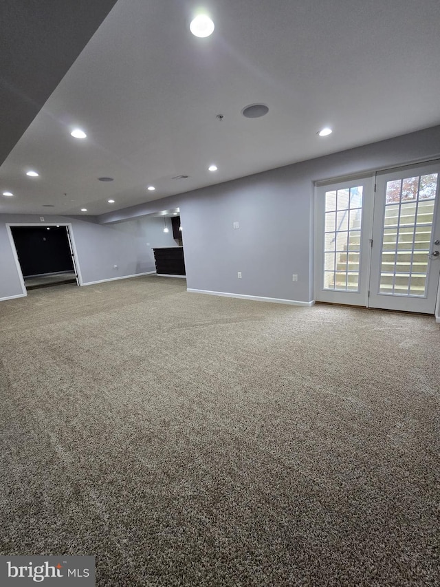
{"type": "Polygon", "coordinates": [[[0,167],[0,212],[99,215],[440,123],[438,0],[208,0],[207,39],[199,6],[115,3],[0,167]]]}

